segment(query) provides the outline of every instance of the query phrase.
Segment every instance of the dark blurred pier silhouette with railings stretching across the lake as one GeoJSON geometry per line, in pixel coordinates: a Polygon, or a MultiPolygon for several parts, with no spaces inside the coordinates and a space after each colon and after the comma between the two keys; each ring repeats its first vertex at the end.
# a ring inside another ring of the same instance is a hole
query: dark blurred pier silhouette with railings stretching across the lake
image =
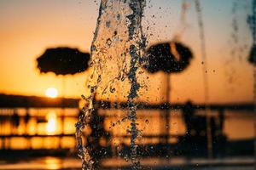
{"type": "MultiPolygon", "coordinates": [[[[9,105],[9,109],[6,109],[1,106],[0,109],[0,116],[2,122],[9,122],[9,118],[11,117],[11,123],[15,128],[19,127],[21,120],[24,120],[25,124],[29,122],[31,119],[40,119],[43,118],[40,115],[31,115],[29,111],[30,108],[55,108],[54,100],[45,102],[43,98],[38,98],[37,104],[33,105],[35,97],[21,97],[17,96],[8,96],[0,98],[1,103],[6,102],[7,100],[15,100],[17,101],[15,105],[9,105]],[[26,105],[21,105],[21,101],[26,101],[26,105]],[[41,103],[40,103],[41,99],[41,103]],[[19,104],[19,105],[18,105],[19,104]],[[26,108],[26,114],[22,116],[18,115],[16,108],[26,108]],[[5,121],[4,121],[5,120],[5,121]]],[[[58,99],[56,99],[58,100],[58,99]]],[[[64,119],[68,117],[73,117],[75,119],[79,116],[79,99],[66,99],[66,105],[63,105],[64,108],[74,108],[76,109],[76,113],[74,115],[65,116],[60,115],[58,117],[63,117],[64,119]]],[[[173,114],[172,111],[180,111],[182,113],[182,119],[184,122],[184,126],[186,129],[186,133],[183,135],[177,134],[166,134],[165,132],[154,134],[154,133],[147,133],[143,134],[143,139],[151,141],[152,139],[158,139],[159,142],[148,144],[140,144],[139,145],[139,153],[140,156],[187,156],[187,157],[203,157],[207,156],[207,125],[206,125],[206,116],[199,114],[200,111],[203,111],[206,108],[206,105],[196,105],[193,104],[191,101],[188,101],[185,104],[170,104],[170,103],[162,103],[162,104],[148,104],[148,103],[136,103],[138,111],[148,111],[148,116],[150,117],[151,111],[165,111],[169,110],[169,114],[173,114]],[[164,141],[162,139],[168,139],[168,141],[172,141],[170,139],[175,139],[175,143],[168,142],[162,143],[164,141]]],[[[212,130],[212,152],[213,155],[216,157],[219,156],[230,156],[230,155],[247,155],[250,156],[253,154],[253,150],[250,150],[249,146],[252,145],[253,147],[253,139],[246,139],[246,140],[233,140],[230,141],[227,139],[227,136],[224,133],[224,122],[225,122],[225,112],[226,111],[241,111],[241,114],[245,114],[244,111],[253,111],[253,104],[230,104],[230,105],[207,105],[208,109],[212,111],[211,116],[211,130],[212,130]]],[[[119,138],[123,141],[125,139],[130,138],[130,134],[123,134],[123,133],[113,133],[109,130],[109,126],[106,122],[108,119],[112,119],[115,115],[104,115],[104,111],[111,111],[115,112],[118,110],[125,111],[128,109],[128,103],[126,102],[119,102],[119,101],[108,101],[108,100],[100,100],[95,101],[95,108],[93,116],[90,118],[90,133],[84,134],[84,139],[93,146],[95,150],[98,150],[95,155],[96,159],[102,160],[107,157],[115,157],[115,156],[129,156],[129,144],[119,144],[119,149],[117,150],[115,145],[109,143],[108,141],[113,140],[114,138],[119,138]],[[100,111],[100,112],[99,112],[100,111]],[[102,143],[102,141],[105,141],[102,143]]],[[[161,113],[161,112],[160,112],[161,113]]],[[[140,117],[140,115],[138,115],[140,117]]],[[[170,116],[171,117],[171,116],[170,116]]],[[[62,119],[62,118],[61,118],[62,119]]],[[[172,117],[171,117],[172,119],[172,117]]],[[[147,119],[148,120],[148,119],[147,119]]],[[[47,121],[46,121],[47,122],[47,121]]],[[[165,121],[164,121],[165,122],[165,121]]],[[[40,124],[40,122],[38,122],[40,124]]],[[[147,122],[145,123],[147,124],[147,122]]],[[[122,122],[119,122],[118,126],[122,125],[122,122]]],[[[172,126],[172,125],[171,125],[172,126]]],[[[35,125],[38,127],[38,125],[35,125]]],[[[27,128],[27,127],[26,127],[27,128]]],[[[113,125],[113,128],[114,125],[113,125]]],[[[62,129],[63,130],[63,129],[62,129]]],[[[23,130],[23,133],[17,133],[17,129],[13,130],[10,133],[1,133],[1,150],[5,150],[1,153],[6,153],[7,151],[19,153],[21,150],[15,150],[10,148],[10,139],[17,139],[23,138],[26,139],[28,142],[27,147],[23,148],[23,150],[31,150],[31,152],[39,153],[40,151],[37,150],[45,150],[44,154],[47,155],[51,154],[63,154],[68,150],[72,150],[75,145],[70,145],[67,148],[62,148],[61,143],[57,144],[58,148],[54,150],[49,150],[41,146],[39,149],[34,149],[32,151],[31,141],[33,138],[40,138],[40,139],[49,139],[49,138],[56,138],[61,139],[65,137],[74,138],[74,133],[53,133],[53,134],[43,134],[43,133],[34,133],[30,134],[27,133],[26,130],[23,130]],[[65,151],[66,150],[66,151],[65,151]],[[64,152],[63,152],[64,151],[64,152]]],[[[61,142],[61,140],[59,140],[61,142]]],[[[70,153],[70,152],[69,152],[70,153]]],[[[75,155],[75,152],[73,152],[75,155]]],[[[1,154],[0,154],[1,155],[1,154]]]]}

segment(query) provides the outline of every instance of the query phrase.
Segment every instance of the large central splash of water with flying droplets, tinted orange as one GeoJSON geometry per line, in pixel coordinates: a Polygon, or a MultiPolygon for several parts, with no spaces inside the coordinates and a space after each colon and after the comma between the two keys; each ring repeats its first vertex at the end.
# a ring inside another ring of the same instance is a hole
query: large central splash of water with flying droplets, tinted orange
{"type": "Polygon", "coordinates": [[[137,156],[137,105],[141,88],[139,71],[142,71],[146,38],[143,35],[142,18],[145,0],[102,0],[96,31],[90,48],[91,74],[88,81],[89,97],[84,99],[88,106],[76,124],[79,157],[83,169],[96,169],[97,160],[90,146],[84,145],[83,129],[93,114],[93,101],[113,95],[126,96],[129,103],[127,119],[131,121],[131,169],[139,169],[137,156]],[[122,82],[122,92],[117,93],[117,83],[122,82]]]}

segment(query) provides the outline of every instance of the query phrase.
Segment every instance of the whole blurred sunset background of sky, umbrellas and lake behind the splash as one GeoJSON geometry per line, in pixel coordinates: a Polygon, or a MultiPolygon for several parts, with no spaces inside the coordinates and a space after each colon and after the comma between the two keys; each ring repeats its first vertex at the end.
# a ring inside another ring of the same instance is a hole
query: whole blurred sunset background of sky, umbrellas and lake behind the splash
{"type": "MultiPolygon", "coordinates": [[[[90,94],[100,3],[0,1],[0,169],[80,169],[75,123],[90,94]]],[[[143,167],[256,167],[255,8],[254,0],[147,1],[148,92],[137,101],[143,167]]],[[[85,143],[101,169],[129,169],[125,97],[97,96],[95,105],[85,143]]]]}

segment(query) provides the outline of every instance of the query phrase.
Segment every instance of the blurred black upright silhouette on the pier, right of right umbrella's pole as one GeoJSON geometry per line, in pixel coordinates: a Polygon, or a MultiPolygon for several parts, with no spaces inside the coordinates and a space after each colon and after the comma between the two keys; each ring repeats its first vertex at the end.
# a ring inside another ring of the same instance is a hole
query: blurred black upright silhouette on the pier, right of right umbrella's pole
{"type": "MultiPolygon", "coordinates": [[[[186,156],[207,156],[207,116],[195,114],[195,105],[188,101],[183,106],[183,120],[187,133],[179,139],[180,148],[186,156]]],[[[224,111],[210,117],[213,156],[223,156],[226,143],[224,135],[224,111]]]]}

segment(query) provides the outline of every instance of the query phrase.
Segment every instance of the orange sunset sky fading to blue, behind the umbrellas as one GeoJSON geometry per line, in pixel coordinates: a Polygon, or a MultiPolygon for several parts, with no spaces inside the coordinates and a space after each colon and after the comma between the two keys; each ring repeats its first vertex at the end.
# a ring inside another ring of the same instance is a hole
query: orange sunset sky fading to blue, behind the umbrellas
{"type": "MultiPolygon", "coordinates": [[[[253,66],[247,63],[252,37],[247,26],[250,0],[238,3],[236,20],[238,42],[231,13],[236,0],[201,0],[208,58],[210,102],[253,101],[253,66]],[[231,52],[235,51],[235,54],[231,52]]],[[[151,0],[145,8],[144,27],[149,26],[149,43],[172,40],[179,29],[181,2],[151,0]],[[154,17],[152,17],[154,15],[154,17]],[[150,34],[153,34],[150,36],[150,34]]],[[[191,48],[195,59],[180,74],[173,74],[173,102],[192,99],[203,102],[201,46],[194,1],[188,0],[187,26],[182,42],[191,48]]],[[[41,75],[36,58],[45,48],[68,46],[88,52],[96,27],[100,1],[94,0],[1,0],[0,1],[0,93],[44,96],[45,90],[57,88],[62,93],[63,77],[41,75]]],[[[88,73],[65,78],[65,96],[84,94],[88,73]]],[[[165,82],[163,73],[150,76],[149,95],[165,82]]],[[[163,94],[163,89],[160,93],[163,94]]],[[[152,95],[152,98],[160,96],[152,95]]],[[[152,99],[154,101],[155,99],[152,99]]]]}

